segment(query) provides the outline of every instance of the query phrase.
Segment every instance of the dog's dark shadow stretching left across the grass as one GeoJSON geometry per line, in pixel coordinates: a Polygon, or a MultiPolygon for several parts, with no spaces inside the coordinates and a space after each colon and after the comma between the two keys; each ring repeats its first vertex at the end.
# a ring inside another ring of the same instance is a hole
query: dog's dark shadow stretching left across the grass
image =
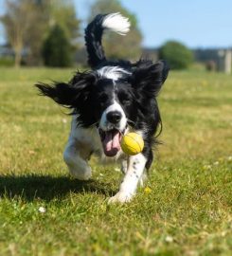
{"type": "Polygon", "coordinates": [[[0,196],[20,196],[27,201],[37,198],[50,201],[53,198],[62,198],[69,192],[95,192],[106,196],[115,193],[109,189],[109,184],[98,180],[80,181],[49,175],[0,175],[0,196]]]}

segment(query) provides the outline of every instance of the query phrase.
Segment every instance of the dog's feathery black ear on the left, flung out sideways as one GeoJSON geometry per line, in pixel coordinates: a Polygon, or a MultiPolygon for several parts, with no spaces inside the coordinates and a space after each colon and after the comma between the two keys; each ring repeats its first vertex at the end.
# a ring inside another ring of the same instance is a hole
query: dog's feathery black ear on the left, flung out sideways
{"type": "Polygon", "coordinates": [[[53,82],[52,84],[39,82],[35,86],[41,95],[49,97],[63,106],[78,108],[81,102],[88,98],[95,82],[94,74],[77,72],[70,82],[53,82]]]}

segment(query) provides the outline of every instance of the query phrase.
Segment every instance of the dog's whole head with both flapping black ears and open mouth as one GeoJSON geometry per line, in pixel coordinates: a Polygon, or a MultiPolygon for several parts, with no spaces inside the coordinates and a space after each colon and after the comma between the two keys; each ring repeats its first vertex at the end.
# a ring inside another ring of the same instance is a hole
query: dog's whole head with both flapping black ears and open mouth
{"type": "Polygon", "coordinates": [[[140,64],[130,71],[104,66],[77,73],[68,83],[36,86],[43,95],[72,109],[80,126],[96,125],[105,155],[114,156],[128,125],[134,127],[138,116],[144,115],[146,119],[146,111],[150,110],[168,72],[167,64],[162,61],[140,64]]]}

